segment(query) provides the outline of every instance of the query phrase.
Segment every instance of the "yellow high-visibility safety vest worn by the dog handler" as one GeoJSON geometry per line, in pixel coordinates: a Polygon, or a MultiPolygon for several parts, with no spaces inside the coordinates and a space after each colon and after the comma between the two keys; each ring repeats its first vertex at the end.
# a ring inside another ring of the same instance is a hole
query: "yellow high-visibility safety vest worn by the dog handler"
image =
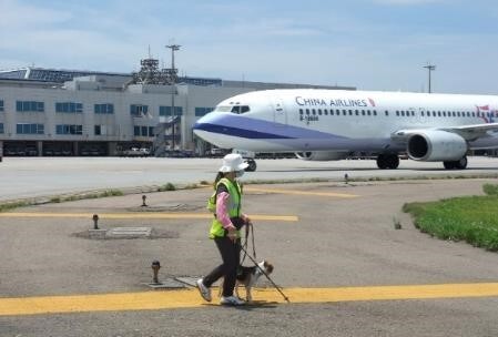
{"type": "MultiPolygon", "coordinates": [[[[230,217],[240,217],[241,216],[241,202],[242,202],[242,188],[237,182],[232,183],[226,177],[221,178],[217,184],[214,193],[207,201],[207,210],[216,212],[216,191],[220,184],[224,184],[226,190],[228,190],[230,198],[228,198],[228,216],[230,217]]],[[[223,237],[225,236],[225,228],[223,228],[222,223],[216,218],[216,214],[214,214],[213,222],[211,224],[210,229],[210,238],[223,237]]],[[[241,237],[241,231],[237,229],[237,237],[241,237]]]]}

